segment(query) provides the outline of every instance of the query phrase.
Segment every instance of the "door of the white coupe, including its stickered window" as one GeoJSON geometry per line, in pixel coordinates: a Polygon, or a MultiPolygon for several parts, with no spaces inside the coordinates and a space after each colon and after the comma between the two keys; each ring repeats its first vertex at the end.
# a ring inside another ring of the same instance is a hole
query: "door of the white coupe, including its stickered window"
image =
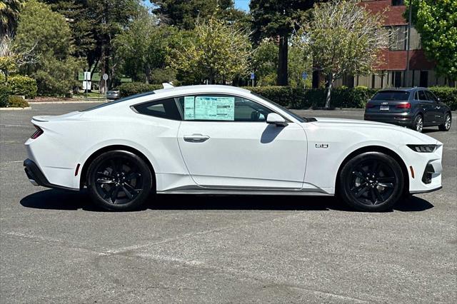
{"type": "Polygon", "coordinates": [[[179,147],[199,186],[302,188],[307,145],[298,123],[268,124],[271,109],[239,96],[181,96],[179,105],[179,147]]]}

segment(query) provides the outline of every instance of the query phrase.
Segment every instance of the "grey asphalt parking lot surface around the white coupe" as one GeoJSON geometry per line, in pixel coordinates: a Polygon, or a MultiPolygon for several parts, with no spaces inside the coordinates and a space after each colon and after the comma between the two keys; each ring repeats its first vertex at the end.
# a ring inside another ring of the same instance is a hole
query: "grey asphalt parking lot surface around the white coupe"
{"type": "Polygon", "coordinates": [[[31,116],[89,106],[0,113],[1,303],[456,303],[456,113],[451,131],[426,129],[444,143],[443,189],[392,212],[337,198],[164,195],[112,213],[84,191],[32,186],[22,166],[31,116]]]}

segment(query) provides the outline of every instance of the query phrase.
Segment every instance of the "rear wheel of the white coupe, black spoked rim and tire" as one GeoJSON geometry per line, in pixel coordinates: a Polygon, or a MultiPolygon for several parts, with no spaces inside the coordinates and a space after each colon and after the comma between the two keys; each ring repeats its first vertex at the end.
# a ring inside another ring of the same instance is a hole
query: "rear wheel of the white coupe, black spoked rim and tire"
{"type": "Polygon", "coordinates": [[[130,151],[97,156],[89,166],[87,181],[92,201],[109,211],[137,210],[153,191],[148,164],[130,151]]]}

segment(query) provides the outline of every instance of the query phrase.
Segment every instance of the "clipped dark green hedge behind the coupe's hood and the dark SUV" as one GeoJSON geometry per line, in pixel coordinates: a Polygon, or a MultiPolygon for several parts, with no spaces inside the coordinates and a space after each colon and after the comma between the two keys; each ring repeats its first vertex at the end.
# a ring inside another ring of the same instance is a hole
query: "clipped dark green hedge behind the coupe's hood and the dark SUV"
{"type": "MultiPolygon", "coordinates": [[[[288,108],[323,107],[326,102],[325,88],[292,88],[290,86],[257,86],[246,89],[288,108]]],[[[457,88],[431,87],[433,93],[451,110],[457,110],[457,88]]],[[[333,88],[331,106],[335,108],[364,108],[378,89],[358,86],[356,88],[333,88]]]]}

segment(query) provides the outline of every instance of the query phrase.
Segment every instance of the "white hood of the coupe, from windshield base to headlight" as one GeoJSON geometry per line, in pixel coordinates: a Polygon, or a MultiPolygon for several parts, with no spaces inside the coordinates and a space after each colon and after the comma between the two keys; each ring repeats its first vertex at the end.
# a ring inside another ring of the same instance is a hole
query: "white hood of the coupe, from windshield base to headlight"
{"type": "Polygon", "coordinates": [[[389,135],[394,138],[393,132],[399,132],[403,135],[408,135],[416,139],[418,143],[430,143],[430,144],[441,144],[435,138],[413,131],[410,128],[405,128],[401,126],[395,126],[390,123],[379,123],[376,121],[360,121],[355,119],[343,119],[343,118],[316,118],[317,121],[311,122],[311,124],[316,126],[334,126],[335,128],[369,128],[379,129],[380,131],[391,131],[389,135]]]}

